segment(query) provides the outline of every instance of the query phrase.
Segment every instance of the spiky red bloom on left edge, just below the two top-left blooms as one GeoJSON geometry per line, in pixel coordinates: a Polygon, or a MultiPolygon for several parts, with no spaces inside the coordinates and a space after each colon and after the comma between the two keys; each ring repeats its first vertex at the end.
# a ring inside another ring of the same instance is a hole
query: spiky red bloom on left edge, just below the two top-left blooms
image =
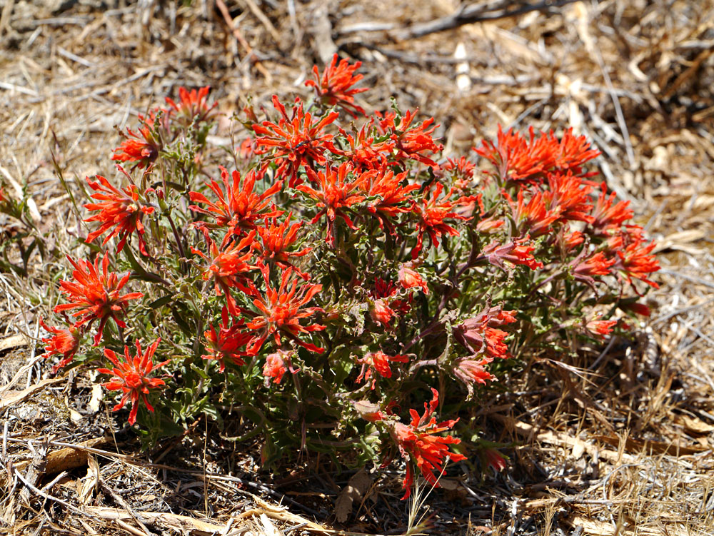
{"type": "MultiPolygon", "coordinates": [[[[116,166],[116,168],[131,181],[129,173],[126,173],[124,168],[121,166],[116,166]]],[[[142,238],[144,224],[141,223],[141,216],[153,213],[154,207],[139,202],[139,188],[134,183],[119,190],[111,186],[103,176],[97,175],[96,178],[99,179],[99,182],[91,181],[89,177],[86,178],[86,181],[89,183],[89,187],[96,192],[91,195],[91,198],[101,201],[101,203],[87,203],[84,208],[88,211],[99,211],[99,214],[86,218],[84,221],[99,221],[101,225],[87,235],[86,243],[91,243],[104,231],[114,227],[101,245],[105,246],[111,237],[119,236],[119,243],[116,245],[116,253],[119,253],[124,248],[129,235],[137,231],[139,251],[142,255],[149,256],[149,252],[146,251],[146,243],[142,238]]]]}

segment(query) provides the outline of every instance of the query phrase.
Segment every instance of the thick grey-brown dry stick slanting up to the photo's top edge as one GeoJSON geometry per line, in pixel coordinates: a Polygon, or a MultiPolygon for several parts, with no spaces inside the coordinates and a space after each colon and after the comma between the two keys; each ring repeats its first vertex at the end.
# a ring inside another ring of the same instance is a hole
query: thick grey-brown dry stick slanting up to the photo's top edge
{"type": "Polygon", "coordinates": [[[441,17],[441,19],[419,22],[408,26],[408,28],[394,30],[391,32],[391,35],[399,40],[416,39],[438,31],[458,28],[458,26],[463,26],[464,24],[495,21],[497,19],[505,19],[509,16],[523,15],[531,11],[545,11],[546,9],[571,4],[574,1],[575,0],[540,1],[535,4],[515,6],[512,0],[481,2],[479,4],[461,6],[456,10],[456,13],[441,17]]]}

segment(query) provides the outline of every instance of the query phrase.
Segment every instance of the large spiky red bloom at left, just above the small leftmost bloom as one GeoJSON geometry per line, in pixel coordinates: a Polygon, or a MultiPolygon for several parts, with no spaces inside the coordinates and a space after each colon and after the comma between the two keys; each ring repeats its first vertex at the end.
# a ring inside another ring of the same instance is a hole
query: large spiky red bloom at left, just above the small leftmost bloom
{"type": "Polygon", "coordinates": [[[99,328],[94,335],[94,345],[99,345],[107,320],[114,318],[116,325],[124,328],[126,324],[123,320],[116,318],[116,315],[124,312],[129,300],[141,298],[144,294],[131,292],[123,296],[119,295],[121,288],[129,281],[129,273],[126,273],[120,280],[116,273],[110,272],[107,253],[104,253],[104,258],[102,258],[101,270],[99,270],[99,256],[94,259],[94,265],[89,261],[76,263],[69,255],[67,259],[74,266],[72,277],[76,283],[64,280],[59,282],[59,290],[66,295],[70,303],[56,305],[54,312],[61,313],[65,310],[79,309],[72,313],[72,316],[79,317],[75,326],[84,323],[91,325],[94,320],[99,319],[99,328]]]}

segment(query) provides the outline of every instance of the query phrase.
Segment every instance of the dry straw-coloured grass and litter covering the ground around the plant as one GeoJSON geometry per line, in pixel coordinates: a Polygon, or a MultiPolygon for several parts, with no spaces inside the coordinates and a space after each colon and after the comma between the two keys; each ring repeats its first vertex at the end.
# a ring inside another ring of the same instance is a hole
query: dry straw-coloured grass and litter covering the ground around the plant
{"type": "MultiPolygon", "coordinates": [[[[236,455],[202,421],[153,457],[134,455],[134,440],[113,435],[109,415],[93,409],[88,378],[41,383],[47,370],[31,340],[56,299],[60,252],[81,247],[84,224],[58,171],[81,199],[79,179],[111,170],[114,126],[132,126],[178,86],[210,84],[225,111],[248,94],[267,104],[272,93],[304,91],[310,66],[337,50],[363,61],[374,88],[363,106],[397,96],[436,116],[449,152],[468,151],[497,123],[587,133],[605,153],[609,186],[660,244],[662,287],[648,295],[647,325],[633,340],[581,348],[569,368],[529,363],[483,411],[488,438],[514,442],[511,467],[433,493],[428,532],[714,531],[711,1],[577,2],[408,39],[404,28],[453,14],[456,3],[226,1],[237,31],[214,9],[219,0],[145,4],[0,3],[0,181],[26,188],[47,245],[44,258],[31,256],[29,277],[0,273],[1,455],[14,464],[0,476],[0,532],[329,533],[346,479],[268,480],[251,449],[236,455]],[[285,509],[273,506],[281,497],[285,509]]],[[[493,13],[504,3],[486,4],[493,13]]],[[[226,134],[219,125],[215,135],[226,134]]],[[[0,240],[20,231],[2,218],[0,240]]],[[[406,530],[393,480],[372,485],[344,526],[406,530]]]]}

